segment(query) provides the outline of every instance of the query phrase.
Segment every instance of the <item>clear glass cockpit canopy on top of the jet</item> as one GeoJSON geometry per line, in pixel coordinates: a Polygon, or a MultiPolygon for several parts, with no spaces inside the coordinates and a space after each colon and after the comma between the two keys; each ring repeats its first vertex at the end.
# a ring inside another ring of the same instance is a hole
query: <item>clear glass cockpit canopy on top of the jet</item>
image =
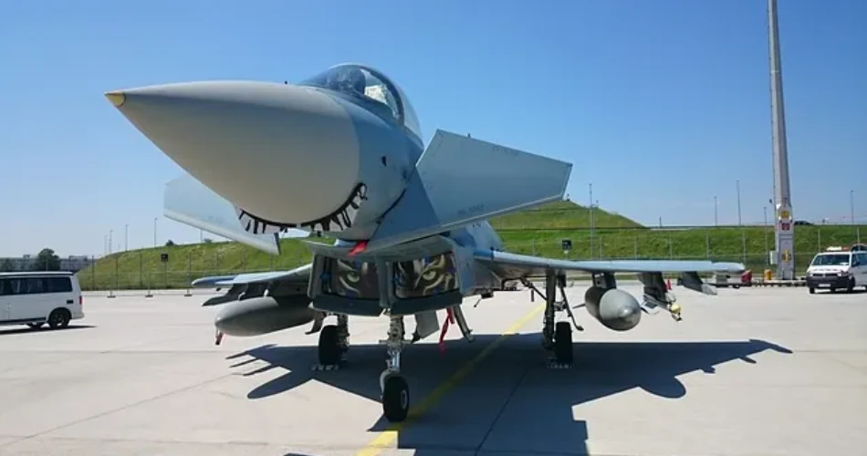
{"type": "Polygon", "coordinates": [[[422,139],[422,129],[409,99],[401,88],[371,67],[341,64],[305,79],[299,85],[329,88],[353,98],[381,103],[391,112],[392,119],[422,139]]]}

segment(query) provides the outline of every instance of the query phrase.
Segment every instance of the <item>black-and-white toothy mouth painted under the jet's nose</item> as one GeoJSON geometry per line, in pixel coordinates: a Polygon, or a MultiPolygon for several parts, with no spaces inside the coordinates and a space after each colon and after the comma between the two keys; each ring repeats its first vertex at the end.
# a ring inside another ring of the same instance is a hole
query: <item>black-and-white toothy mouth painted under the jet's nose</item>
{"type": "Polygon", "coordinates": [[[350,197],[337,211],[309,222],[275,222],[273,220],[266,220],[262,217],[258,217],[256,214],[247,212],[241,208],[236,208],[236,212],[238,214],[238,221],[247,233],[283,233],[290,228],[309,230],[312,232],[320,231],[339,233],[348,230],[353,226],[355,218],[358,216],[361,208],[361,204],[365,201],[367,201],[367,185],[359,183],[355,186],[355,190],[351,193],[350,197]]]}

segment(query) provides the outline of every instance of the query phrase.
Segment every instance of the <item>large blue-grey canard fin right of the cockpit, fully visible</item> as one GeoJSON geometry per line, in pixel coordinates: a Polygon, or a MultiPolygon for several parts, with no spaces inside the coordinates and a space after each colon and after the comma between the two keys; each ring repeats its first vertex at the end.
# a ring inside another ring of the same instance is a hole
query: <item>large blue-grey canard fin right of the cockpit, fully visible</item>
{"type": "Polygon", "coordinates": [[[368,250],[563,198],[572,165],[436,130],[368,250]]]}

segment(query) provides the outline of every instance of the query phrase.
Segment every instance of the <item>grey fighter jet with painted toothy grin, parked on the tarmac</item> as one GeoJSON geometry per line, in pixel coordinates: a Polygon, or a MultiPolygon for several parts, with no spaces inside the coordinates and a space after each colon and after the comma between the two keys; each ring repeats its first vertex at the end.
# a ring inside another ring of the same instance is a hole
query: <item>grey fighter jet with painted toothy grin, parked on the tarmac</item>
{"type": "Polygon", "coordinates": [[[214,322],[220,337],[312,322],[319,368],[345,361],[350,316],[387,317],[380,387],[390,421],[405,420],[410,408],[403,348],[440,329],[443,310],[472,341],[461,307],[468,297],[526,285],[545,302],[541,335],[550,365],[568,367],[572,327],[582,329],[563,289],[568,272],[592,276],[583,303],[590,316],[626,331],[642,312],[664,310],[680,320],[663,273],[713,295],[699,273],[745,269],[505,252],[486,220],[561,200],[572,165],[444,130],[425,146],[409,98],[369,66],[341,64],[297,84],[201,81],[105,96],[186,171],[166,186],[167,217],[271,254],[279,254],[279,234],[290,229],[336,239],[308,241],[312,262],[297,269],[204,277],[193,285],[228,288],[204,303],[225,306],[214,322]],[[615,273],[639,277],[641,302],[617,288],[615,273]],[[532,277],[544,278],[544,292],[532,277]],[[408,316],[415,319],[409,336],[408,316]]]}

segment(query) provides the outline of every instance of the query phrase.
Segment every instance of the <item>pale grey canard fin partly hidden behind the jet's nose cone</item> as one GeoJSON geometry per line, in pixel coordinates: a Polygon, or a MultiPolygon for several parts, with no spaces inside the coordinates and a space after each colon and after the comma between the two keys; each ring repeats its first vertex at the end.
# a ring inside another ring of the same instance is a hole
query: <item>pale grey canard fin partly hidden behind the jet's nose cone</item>
{"type": "Polygon", "coordinates": [[[269,254],[280,254],[277,233],[247,233],[238,222],[235,205],[189,174],[165,185],[163,206],[165,216],[174,221],[224,236],[269,254]]]}

